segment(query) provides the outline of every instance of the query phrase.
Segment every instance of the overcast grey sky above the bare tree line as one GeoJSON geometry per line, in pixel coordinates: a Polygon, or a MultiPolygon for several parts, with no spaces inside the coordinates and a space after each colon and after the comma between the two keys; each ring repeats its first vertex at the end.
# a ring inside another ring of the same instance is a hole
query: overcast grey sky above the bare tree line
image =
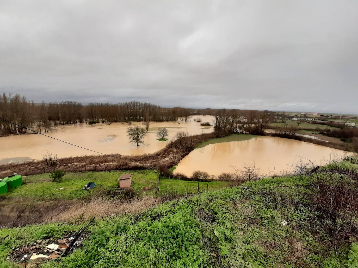
{"type": "Polygon", "coordinates": [[[358,1],[0,0],[0,91],[358,113],[358,1]]]}

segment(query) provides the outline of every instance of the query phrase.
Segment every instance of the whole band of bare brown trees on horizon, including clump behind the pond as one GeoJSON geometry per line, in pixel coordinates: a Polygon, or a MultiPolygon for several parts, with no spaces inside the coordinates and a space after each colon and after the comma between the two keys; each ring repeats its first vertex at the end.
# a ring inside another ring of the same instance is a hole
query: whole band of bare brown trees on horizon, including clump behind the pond
{"type": "MultiPolygon", "coordinates": [[[[164,108],[155,104],[139,101],[124,103],[89,103],[61,101],[59,103],[41,104],[29,101],[19,94],[0,95],[0,135],[26,133],[26,128],[51,131],[54,125],[95,124],[95,123],[130,123],[145,122],[146,129],[150,121],[187,121],[193,115],[214,115],[214,132],[217,137],[232,133],[262,133],[263,128],[274,121],[270,111],[237,109],[190,109],[182,107],[164,108]]],[[[201,121],[201,120],[200,120],[201,121]]],[[[205,124],[205,123],[203,123],[205,124]]]]}

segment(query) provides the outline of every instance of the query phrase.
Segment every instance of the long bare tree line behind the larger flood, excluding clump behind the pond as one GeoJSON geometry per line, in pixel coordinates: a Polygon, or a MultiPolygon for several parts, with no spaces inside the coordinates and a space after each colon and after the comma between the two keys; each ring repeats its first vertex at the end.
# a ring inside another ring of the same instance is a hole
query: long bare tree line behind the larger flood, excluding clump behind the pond
{"type": "Polygon", "coordinates": [[[131,122],[131,121],[187,121],[194,109],[174,107],[164,108],[150,103],[127,101],[124,103],[89,103],[83,105],[76,101],[62,101],[45,104],[29,101],[19,94],[0,95],[0,119],[2,135],[26,133],[26,129],[37,127],[40,131],[51,130],[53,125],[82,124],[98,122],[131,122]],[[20,125],[20,126],[18,126],[20,125]]]}

